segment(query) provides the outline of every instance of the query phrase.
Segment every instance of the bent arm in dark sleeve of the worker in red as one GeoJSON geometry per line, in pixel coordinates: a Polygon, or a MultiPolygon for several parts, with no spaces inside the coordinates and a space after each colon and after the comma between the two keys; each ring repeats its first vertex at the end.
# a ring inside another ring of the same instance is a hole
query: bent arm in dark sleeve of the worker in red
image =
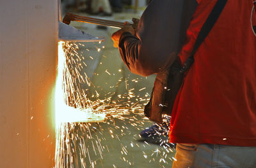
{"type": "Polygon", "coordinates": [[[196,6],[196,0],[152,0],[136,36],[127,29],[118,31],[120,55],[132,73],[148,76],[172,65],[196,6]]]}

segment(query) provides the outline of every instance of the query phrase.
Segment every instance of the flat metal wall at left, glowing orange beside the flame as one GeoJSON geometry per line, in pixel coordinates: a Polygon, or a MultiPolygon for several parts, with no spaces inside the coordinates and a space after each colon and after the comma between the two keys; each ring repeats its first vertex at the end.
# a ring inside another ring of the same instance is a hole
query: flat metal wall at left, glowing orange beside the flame
{"type": "Polygon", "coordinates": [[[57,0],[0,1],[0,167],[53,167],[57,0]]]}

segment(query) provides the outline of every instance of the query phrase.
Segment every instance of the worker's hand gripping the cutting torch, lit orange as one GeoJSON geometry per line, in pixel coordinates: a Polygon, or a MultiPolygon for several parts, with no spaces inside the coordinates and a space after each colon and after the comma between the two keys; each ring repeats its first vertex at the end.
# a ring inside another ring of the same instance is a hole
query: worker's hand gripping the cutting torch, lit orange
{"type": "Polygon", "coordinates": [[[111,38],[114,41],[114,47],[118,48],[119,39],[123,32],[130,32],[132,35],[135,34],[135,31],[132,28],[132,26],[128,22],[125,22],[124,27],[122,29],[120,29],[119,31],[116,31],[112,34],[111,38]]]}

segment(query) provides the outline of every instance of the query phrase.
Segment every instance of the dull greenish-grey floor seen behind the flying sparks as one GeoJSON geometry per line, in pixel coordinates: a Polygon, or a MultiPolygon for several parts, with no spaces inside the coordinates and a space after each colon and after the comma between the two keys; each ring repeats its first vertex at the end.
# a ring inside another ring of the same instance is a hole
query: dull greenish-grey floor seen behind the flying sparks
{"type": "MultiPolygon", "coordinates": [[[[125,11],[103,18],[126,21],[132,17],[140,18],[141,13],[125,11]]],[[[128,105],[125,114],[109,115],[104,122],[75,123],[68,134],[77,137],[73,138],[76,141],[73,141],[70,148],[76,157],[68,161],[72,166],[65,167],[172,167],[175,150],[168,144],[161,144],[167,141],[167,137],[161,136],[162,139],[156,143],[139,136],[143,129],[152,125],[141,109],[143,103],[147,102],[156,76],[145,78],[129,72],[111,41],[111,34],[117,29],[81,22],[71,22],[70,25],[93,36],[106,38],[100,44],[83,43],[84,48],[81,47],[88,60],[84,71],[93,83],[93,89],[88,87],[88,98],[95,99],[94,95],[97,94],[97,99],[111,97],[109,101],[115,102],[116,106],[120,103],[128,105]],[[138,104],[141,104],[141,109],[132,108],[138,104]]]]}

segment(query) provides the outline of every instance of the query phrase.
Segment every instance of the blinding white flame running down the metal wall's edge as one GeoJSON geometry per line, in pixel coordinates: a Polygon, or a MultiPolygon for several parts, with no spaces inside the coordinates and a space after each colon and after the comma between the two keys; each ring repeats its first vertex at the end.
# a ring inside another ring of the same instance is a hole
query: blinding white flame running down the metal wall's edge
{"type": "MultiPolygon", "coordinates": [[[[72,149],[72,143],[76,144],[74,133],[72,130],[76,125],[80,125],[82,130],[87,124],[86,122],[103,122],[105,118],[104,113],[93,113],[93,108],[81,107],[79,101],[74,100],[72,96],[75,95],[74,79],[68,70],[67,55],[64,47],[68,43],[60,41],[58,43],[58,74],[55,87],[55,120],[56,120],[56,151],[55,151],[55,167],[73,167],[74,162],[78,163],[78,159],[83,161],[83,157],[77,158],[78,151],[72,149]],[[76,108],[68,106],[69,101],[76,108]],[[83,122],[83,123],[81,123],[83,122]],[[84,123],[85,122],[85,123],[84,123]]],[[[83,78],[82,78],[83,79],[83,78]]],[[[84,137],[80,139],[84,140],[84,137]]],[[[82,148],[82,147],[81,147],[82,148]]],[[[83,150],[85,150],[83,146],[83,150]]],[[[81,156],[86,156],[86,153],[81,153],[81,156]]],[[[90,155],[88,154],[90,157],[90,155]]],[[[81,161],[80,161],[81,162],[81,161]]],[[[86,167],[84,162],[83,167],[86,167]]],[[[92,163],[91,163],[92,164],[92,163]]]]}

